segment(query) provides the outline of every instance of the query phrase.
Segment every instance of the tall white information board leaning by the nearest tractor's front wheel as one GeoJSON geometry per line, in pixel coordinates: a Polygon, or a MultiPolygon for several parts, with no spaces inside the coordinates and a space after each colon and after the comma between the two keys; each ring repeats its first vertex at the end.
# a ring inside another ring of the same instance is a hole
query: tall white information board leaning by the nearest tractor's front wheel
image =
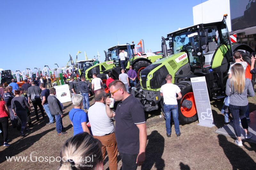
{"type": "Polygon", "coordinates": [[[205,77],[190,78],[200,126],[213,127],[212,108],[205,77]]]}

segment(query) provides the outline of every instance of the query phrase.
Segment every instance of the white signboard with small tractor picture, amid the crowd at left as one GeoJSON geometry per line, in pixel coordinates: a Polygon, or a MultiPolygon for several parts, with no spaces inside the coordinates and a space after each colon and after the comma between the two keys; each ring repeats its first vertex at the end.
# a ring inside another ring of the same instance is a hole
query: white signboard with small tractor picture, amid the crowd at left
{"type": "Polygon", "coordinates": [[[61,103],[71,101],[68,85],[56,85],[54,88],[56,89],[56,97],[61,103]]]}

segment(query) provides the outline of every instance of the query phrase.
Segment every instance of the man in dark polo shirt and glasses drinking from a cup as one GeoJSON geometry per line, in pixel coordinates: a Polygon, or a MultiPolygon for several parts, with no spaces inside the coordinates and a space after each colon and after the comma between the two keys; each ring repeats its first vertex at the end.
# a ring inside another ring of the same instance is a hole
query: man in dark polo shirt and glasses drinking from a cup
{"type": "Polygon", "coordinates": [[[116,102],[114,108],[110,108],[111,100],[107,98],[106,112],[109,118],[116,118],[115,135],[122,157],[122,170],[136,170],[145,160],[147,143],[143,105],[126,91],[122,81],[115,80],[108,87],[116,102]]]}

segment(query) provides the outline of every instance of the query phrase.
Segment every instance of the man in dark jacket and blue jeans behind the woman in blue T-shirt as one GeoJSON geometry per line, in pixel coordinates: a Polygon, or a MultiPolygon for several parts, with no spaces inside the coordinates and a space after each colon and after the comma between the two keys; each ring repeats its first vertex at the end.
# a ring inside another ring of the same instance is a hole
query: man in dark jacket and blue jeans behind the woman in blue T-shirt
{"type": "Polygon", "coordinates": [[[81,81],[78,84],[81,95],[83,96],[83,106],[84,106],[84,110],[88,110],[90,107],[90,103],[89,103],[89,96],[90,94],[90,90],[89,87],[87,85],[87,83],[85,82],[85,77],[81,77],[81,81]],[[85,106],[86,105],[86,106],[85,106]]]}

